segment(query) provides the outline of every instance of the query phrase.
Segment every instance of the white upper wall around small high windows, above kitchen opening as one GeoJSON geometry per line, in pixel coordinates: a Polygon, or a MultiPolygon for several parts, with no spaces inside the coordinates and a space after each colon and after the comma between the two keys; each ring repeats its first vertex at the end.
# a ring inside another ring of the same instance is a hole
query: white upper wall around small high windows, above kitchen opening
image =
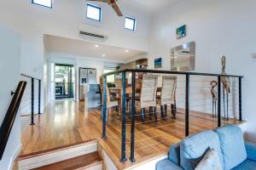
{"type": "MultiPolygon", "coordinates": [[[[108,32],[105,44],[148,51],[148,15],[119,2],[124,14],[137,18],[137,31],[132,32],[124,29],[125,19],[117,17],[111,7],[98,4],[102,6],[101,23],[86,19],[84,0],[55,0],[53,9],[34,5],[31,0],[1,1],[0,23],[12,27],[21,36],[21,72],[43,80],[44,34],[79,39],[79,26],[95,26],[108,32]]],[[[46,86],[44,81],[42,87],[46,86]]]]}

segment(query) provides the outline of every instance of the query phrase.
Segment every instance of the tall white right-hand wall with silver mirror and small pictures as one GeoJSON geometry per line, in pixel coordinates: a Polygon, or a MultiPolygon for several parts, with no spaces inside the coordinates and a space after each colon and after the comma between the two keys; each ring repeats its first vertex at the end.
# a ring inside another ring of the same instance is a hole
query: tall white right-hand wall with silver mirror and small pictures
{"type": "Polygon", "coordinates": [[[243,75],[242,111],[247,139],[256,141],[255,71],[256,2],[254,0],[187,0],[156,14],[152,22],[151,58],[163,57],[163,69],[171,69],[170,50],[195,41],[195,71],[220,73],[220,59],[227,57],[228,74],[243,75]],[[176,28],[188,26],[188,36],[176,39],[176,28]]]}

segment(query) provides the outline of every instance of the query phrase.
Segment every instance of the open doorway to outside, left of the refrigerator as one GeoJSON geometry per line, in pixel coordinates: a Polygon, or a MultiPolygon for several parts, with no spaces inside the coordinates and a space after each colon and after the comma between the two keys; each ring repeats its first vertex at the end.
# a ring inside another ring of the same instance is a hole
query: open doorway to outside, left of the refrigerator
{"type": "Polygon", "coordinates": [[[55,64],[55,99],[74,97],[73,65],[55,64]]]}

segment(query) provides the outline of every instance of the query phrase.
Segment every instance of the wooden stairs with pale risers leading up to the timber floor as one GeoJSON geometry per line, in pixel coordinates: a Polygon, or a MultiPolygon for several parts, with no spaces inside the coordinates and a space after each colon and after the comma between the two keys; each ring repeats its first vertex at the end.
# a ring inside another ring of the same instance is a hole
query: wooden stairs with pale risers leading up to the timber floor
{"type": "Polygon", "coordinates": [[[18,169],[102,170],[97,140],[19,156],[18,169]]]}

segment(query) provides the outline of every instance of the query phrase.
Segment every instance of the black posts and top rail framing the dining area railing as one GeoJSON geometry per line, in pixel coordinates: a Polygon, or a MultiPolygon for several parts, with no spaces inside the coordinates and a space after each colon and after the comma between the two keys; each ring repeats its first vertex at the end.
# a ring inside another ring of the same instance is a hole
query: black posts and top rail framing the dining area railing
{"type": "Polygon", "coordinates": [[[142,70],[142,69],[124,69],[119,71],[113,71],[102,75],[103,78],[103,123],[102,123],[102,139],[107,139],[106,127],[107,127],[107,115],[106,115],[106,105],[107,105],[107,98],[106,98],[106,88],[107,88],[107,77],[115,74],[122,74],[123,78],[123,120],[122,120],[122,144],[121,144],[121,158],[120,161],[124,162],[127,161],[125,157],[125,139],[126,139],[126,109],[125,109],[125,73],[131,72],[131,87],[132,87],[132,98],[131,98],[131,156],[130,161],[134,162],[134,148],[135,148],[135,114],[136,114],[136,107],[135,107],[135,82],[136,82],[136,73],[159,73],[159,74],[173,74],[173,75],[183,75],[186,77],[185,83],[185,136],[189,136],[189,82],[190,76],[202,76],[202,77],[217,77],[218,78],[218,127],[221,126],[221,77],[235,77],[239,79],[239,121],[242,121],[241,115],[241,79],[242,76],[235,76],[235,75],[221,75],[221,74],[211,74],[211,73],[200,73],[200,72],[183,72],[183,71],[157,71],[157,70],[142,70]]]}

